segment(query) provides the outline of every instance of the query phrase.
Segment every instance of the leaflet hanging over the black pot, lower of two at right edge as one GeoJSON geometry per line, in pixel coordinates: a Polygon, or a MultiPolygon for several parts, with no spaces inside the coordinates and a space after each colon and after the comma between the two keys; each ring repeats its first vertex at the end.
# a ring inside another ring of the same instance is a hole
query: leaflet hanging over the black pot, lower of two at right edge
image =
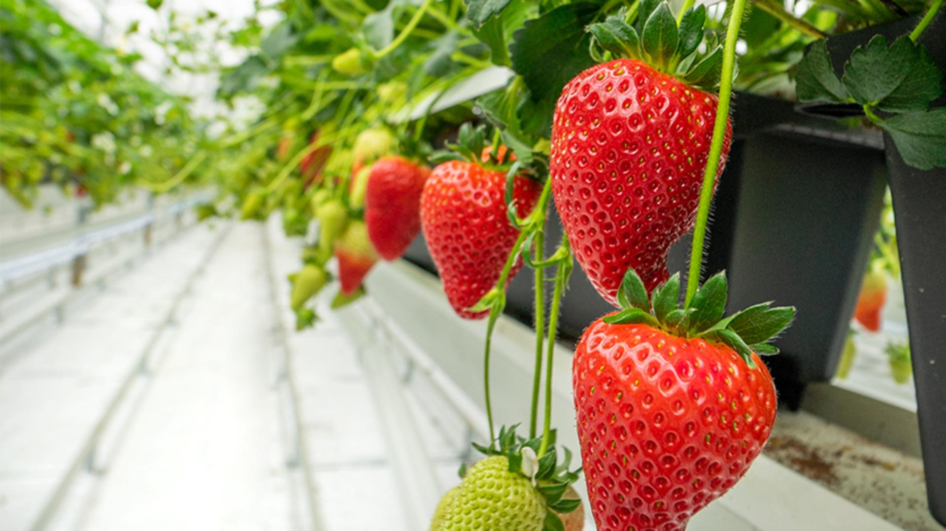
{"type": "Polygon", "coordinates": [[[946,108],[890,116],[880,126],[906,164],[920,169],[946,168],[946,108]]]}

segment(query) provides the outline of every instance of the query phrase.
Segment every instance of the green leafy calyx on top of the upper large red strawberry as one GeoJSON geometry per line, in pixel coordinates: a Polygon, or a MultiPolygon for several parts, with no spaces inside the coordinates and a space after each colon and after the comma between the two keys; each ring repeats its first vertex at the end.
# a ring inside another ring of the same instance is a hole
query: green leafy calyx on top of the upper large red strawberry
{"type": "Polygon", "coordinates": [[[622,9],[587,28],[597,61],[608,61],[605,54],[636,59],[693,87],[711,91],[719,86],[723,46],[715,34],[706,37],[705,6],[687,9],[677,24],[666,0],[643,0],[636,22],[628,24],[627,18],[622,9]],[[700,51],[704,41],[705,50],[700,51]]]}

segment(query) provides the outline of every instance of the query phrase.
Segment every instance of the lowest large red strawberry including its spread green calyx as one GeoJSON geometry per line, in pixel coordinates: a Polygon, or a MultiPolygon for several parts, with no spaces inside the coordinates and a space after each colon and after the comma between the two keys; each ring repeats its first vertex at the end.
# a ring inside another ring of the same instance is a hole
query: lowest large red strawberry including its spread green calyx
{"type": "Polygon", "coordinates": [[[753,306],[723,319],[726,277],[711,277],[688,310],[679,277],[648,301],[634,270],[623,310],[587,327],[572,365],[588,502],[602,531],[684,529],[761,452],[776,393],[759,354],[794,309],[753,306]],[[749,346],[751,345],[751,346],[749,346]]]}

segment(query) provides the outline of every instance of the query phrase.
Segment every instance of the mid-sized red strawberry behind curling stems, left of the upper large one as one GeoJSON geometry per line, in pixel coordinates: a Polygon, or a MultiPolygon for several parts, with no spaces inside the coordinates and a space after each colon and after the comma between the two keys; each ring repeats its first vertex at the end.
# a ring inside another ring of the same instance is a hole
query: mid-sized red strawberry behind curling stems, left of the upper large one
{"type": "MultiPolygon", "coordinates": [[[[505,172],[454,160],[433,169],[421,194],[421,223],[430,256],[450,305],[464,319],[488,313],[467,309],[496,286],[518,237],[506,217],[505,189],[505,172]]],[[[517,176],[513,199],[519,217],[532,211],[540,193],[537,182],[517,176]]],[[[510,280],[521,267],[519,259],[510,280]]]]}

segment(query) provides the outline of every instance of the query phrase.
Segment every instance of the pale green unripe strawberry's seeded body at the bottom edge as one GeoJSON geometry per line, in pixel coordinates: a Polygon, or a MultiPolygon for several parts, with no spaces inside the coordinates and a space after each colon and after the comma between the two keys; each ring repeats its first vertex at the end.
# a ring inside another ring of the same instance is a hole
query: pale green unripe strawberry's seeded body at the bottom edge
{"type": "Polygon", "coordinates": [[[466,472],[445,507],[438,531],[541,531],[546,504],[523,475],[509,471],[504,455],[486,457],[466,472]]]}

